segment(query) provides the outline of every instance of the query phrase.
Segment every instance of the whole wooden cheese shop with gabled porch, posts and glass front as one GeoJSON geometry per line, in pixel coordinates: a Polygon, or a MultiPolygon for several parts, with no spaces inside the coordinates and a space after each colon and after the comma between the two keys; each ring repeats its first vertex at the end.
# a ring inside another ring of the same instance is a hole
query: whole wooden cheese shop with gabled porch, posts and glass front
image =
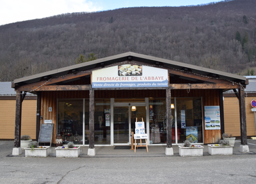
{"type": "MultiPolygon", "coordinates": [[[[15,79],[15,147],[26,92],[37,98],[36,135],[54,123],[64,144],[131,145],[134,122],[145,122],[150,145],[218,142],[224,131],[223,91],[239,98],[241,139],[246,145],[245,77],[168,59],[127,52],[15,79]]],[[[36,137],[36,138],[37,138],[36,137]]],[[[54,143],[55,140],[53,140],[54,143]]]]}

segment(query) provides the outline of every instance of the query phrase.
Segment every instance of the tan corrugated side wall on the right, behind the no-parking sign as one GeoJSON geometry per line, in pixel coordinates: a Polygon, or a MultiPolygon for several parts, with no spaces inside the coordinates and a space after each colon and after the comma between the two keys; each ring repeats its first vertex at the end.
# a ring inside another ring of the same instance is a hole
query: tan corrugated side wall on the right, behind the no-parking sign
{"type": "MultiPolygon", "coordinates": [[[[255,97],[245,97],[246,107],[246,129],[247,136],[255,136],[255,121],[252,112],[251,102],[255,97]]],[[[240,133],[240,118],[239,118],[239,101],[234,97],[224,97],[224,122],[225,133],[232,134],[233,136],[241,136],[240,133]]]]}

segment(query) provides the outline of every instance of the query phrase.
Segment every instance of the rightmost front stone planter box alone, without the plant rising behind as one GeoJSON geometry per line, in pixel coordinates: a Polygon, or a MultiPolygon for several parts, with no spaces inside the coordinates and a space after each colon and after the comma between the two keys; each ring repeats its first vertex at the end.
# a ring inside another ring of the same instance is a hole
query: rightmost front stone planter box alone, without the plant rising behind
{"type": "Polygon", "coordinates": [[[233,146],[221,146],[221,144],[208,144],[207,146],[210,155],[233,155],[233,146]]]}

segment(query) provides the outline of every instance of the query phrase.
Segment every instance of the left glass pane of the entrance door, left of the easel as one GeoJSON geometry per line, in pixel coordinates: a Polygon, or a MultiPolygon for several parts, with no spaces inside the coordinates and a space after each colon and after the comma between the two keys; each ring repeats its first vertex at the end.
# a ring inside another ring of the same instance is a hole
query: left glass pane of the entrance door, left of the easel
{"type": "MultiPolygon", "coordinates": [[[[129,143],[129,106],[114,107],[114,143],[129,143]]],[[[130,121],[131,122],[131,121],[130,121]]]]}

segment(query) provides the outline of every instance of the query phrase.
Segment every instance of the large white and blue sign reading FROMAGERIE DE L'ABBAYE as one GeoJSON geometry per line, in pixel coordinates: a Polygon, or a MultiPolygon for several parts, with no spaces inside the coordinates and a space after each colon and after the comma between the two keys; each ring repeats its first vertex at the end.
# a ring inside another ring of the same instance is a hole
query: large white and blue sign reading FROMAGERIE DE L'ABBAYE
{"type": "Polygon", "coordinates": [[[168,87],[168,70],[127,64],[92,72],[92,88],[157,87],[168,87]]]}

